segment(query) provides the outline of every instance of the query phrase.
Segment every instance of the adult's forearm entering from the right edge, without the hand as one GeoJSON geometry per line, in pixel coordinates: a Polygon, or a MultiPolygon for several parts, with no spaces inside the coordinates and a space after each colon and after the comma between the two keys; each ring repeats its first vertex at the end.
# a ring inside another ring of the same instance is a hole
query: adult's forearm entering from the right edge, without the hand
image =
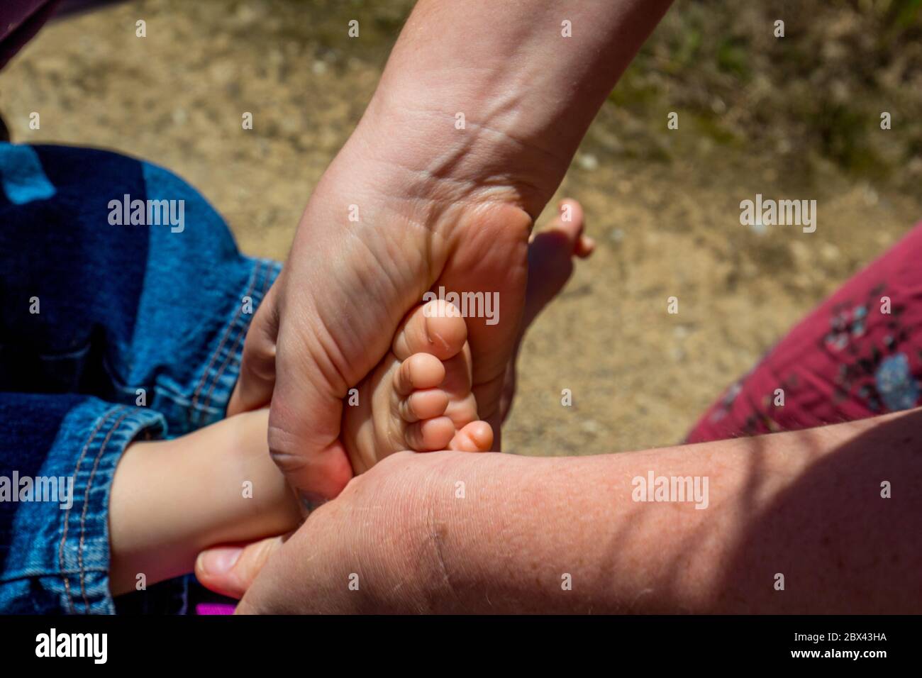
{"type": "Polygon", "coordinates": [[[443,500],[431,530],[433,600],[478,612],[918,612],[920,426],[914,410],[604,457],[458,460],[466,498],[443,500]],[[651,473],[706,478],[706,501],[634,501],[634,479],[651,473]]]}

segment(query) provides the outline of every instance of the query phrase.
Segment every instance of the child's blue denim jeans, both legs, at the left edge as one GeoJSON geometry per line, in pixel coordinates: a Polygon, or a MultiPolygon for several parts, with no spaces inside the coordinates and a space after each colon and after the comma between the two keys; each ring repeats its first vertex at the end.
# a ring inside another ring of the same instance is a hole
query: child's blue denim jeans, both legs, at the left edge
{"type": "MultiPolygon", "coordinates": [[[[0,613],[115,611],[118,460],[138,436],[224,416],[253,317],[245,298],[255,311],[279,269],[242,256],[214,208],[160,167],[0,143],[0,483],[73,478],[67,507],[4,500],[0,486],[0,613]],[[112,225],[124,195],[183,200],[183,230],[112,225]]],[[[135,609],[183,612],[187,587],[151,587],[135,595],[171,601],[135,609]]]]}

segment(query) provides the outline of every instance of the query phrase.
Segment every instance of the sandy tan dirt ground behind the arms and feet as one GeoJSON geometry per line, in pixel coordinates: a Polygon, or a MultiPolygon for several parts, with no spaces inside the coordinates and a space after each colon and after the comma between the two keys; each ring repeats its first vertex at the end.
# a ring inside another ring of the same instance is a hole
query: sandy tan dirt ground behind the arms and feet
{"type": "MultiPolygon", "coordinates": [[[[219,209],[244,252],[283,258],[411,5],[107,7],[46,27],[0,73],[0,114],[17,142],[115,149],[177,172],[219,209]],[[349,18],[361,20],[359,40],[346,38],[349,18]],[[147,22],[146,38],[136,38],[138,19],[147,22]],[[33,111],[40,130],[29,128],[33,111]],[[243,112],[254,114],[252,132],[242,132],[243,112]]],[[[703,92],[696,110],[711,113],[681,117],[691,90],[680,89],[681,73],[660,86],[656,74],[668,67],[655,66],[659,46],[675,42],[694,19],[683,12],[692,10],[674,8],[657,30],[646,70],[629,71],[615,90],[561,186],[559,196],[583,202],[597,254],[527,335],[507,451],[596,454],[679,441],[799,316],[922,217],[922,160],[888,150],[903,139],[916,153],[917,138],[900,137],[909,132],[899,125],[879,132],[891,135],[891,146],[882,145],[875,162],[836,143],[813,149],[803,141],[813,127],[798,124],[797,110],[788,106],[774,124],[771,83],[785,75],[774,73],[770,55],[746,61],[750,43],[739,54],[739,41],[715,48],[722,70],[713,88],[724,90],[703,92]],[[753,102],[760,87],[767,93],[753,102]],[[671,110],[680,112],[679,130],[666,128],[671,110]],[[718,124],[725,126],[715,131],[718,124]],[[767,131],[748,135],[756,124],[767,131]],[[816,232],[741,226],[739,201],[757,193],[816,199],[816,232]],[[678,315],[667,313],[669,296],[680,300],[678,315]],[[572,390],[573,407],[561,406],[563,388],[572,390]]],[[[829,41],[847,44],[837,35],[829,41]]],[[[692,41],[703,46],[693,47],[690,72],[707,54],[704,37],[692,41]]],[[[834,81],[829,87],[838,91],[834,81]]],[[[918,101],[899,105],[920,110],[918,101]]],[[[869,106],[887,110],[886,101],[869,106]]],[[[879,125],[870,118],[866,126],[879,125]]],[[[872,132],[859,151],[878,148],[872,132]]]]}

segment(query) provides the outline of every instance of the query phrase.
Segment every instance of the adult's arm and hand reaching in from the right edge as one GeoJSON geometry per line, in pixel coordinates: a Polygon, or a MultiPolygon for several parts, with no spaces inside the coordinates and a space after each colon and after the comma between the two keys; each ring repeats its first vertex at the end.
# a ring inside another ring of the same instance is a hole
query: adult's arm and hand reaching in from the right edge
{"type": "Polygon", "coordinates": [[[917,613],[920,431],[912,410],[600,457],[401,454],[267,563],[261,543],[198,573],[242,589],[266,563],[247,613],[917,613]],[[707,477],[707,507],[633,501],[650,471],[707,477]]]}

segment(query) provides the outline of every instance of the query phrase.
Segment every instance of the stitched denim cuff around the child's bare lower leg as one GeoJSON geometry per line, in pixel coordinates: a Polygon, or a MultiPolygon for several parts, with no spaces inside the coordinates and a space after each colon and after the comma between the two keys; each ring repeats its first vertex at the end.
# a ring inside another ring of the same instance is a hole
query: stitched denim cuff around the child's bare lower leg
{"type": "Polygon", "coordinates": [[[6,612],[114,613],[109,590],[109,497],[125,448],[166,432],[148,408],[86,398],[68,411],[41,467],[73,482],[58,502],[18,507],[14,539],[0,576],[6,612]]]}

